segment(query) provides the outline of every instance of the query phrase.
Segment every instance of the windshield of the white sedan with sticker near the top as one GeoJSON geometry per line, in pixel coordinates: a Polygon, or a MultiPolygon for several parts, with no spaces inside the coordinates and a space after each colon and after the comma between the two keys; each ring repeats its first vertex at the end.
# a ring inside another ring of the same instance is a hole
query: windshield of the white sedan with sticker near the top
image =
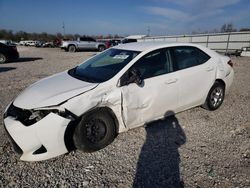
{"type": "Polygon", "coordinates": [[[115,76],[139,53],[111,48],[71,69],[69,74],[87,82],[105,82],[115,76]]]}

